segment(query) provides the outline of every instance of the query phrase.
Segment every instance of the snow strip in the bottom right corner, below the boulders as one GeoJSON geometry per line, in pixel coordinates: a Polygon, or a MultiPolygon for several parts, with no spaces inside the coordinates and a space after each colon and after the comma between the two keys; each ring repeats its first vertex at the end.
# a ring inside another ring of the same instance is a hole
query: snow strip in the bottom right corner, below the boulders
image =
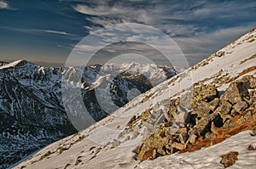
{"type": "Polygon", "coordinates": [[[247,147],[250,144],[256,145],[256,137],[251,136],[250,133],[249,131],[240,132],[220,144],[213,145],[207,149],[200,149],[193,153],[171,155],[169,158],[160,157],[154,161],[144,161],[137,168],[224,168],[219,163],[220,156],[230,151],[237,151],[239,153],[239,161],[229,168],[254,169],[256,152],[247,150],[247,147]]]}

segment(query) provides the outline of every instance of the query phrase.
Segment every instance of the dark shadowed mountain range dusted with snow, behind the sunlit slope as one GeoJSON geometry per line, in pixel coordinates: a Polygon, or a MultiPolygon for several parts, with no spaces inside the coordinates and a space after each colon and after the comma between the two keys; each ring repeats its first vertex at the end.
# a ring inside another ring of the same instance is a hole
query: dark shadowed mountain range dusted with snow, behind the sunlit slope
{"type": "MultiPolygon", "coordinates": [[[[129,67],[143,69],[143,65],[127,63],[125,65],[109,65],[108,71],[122,67],[122,75],[117,76],[108,87],[112,93],[113,103],[123,106],[128,99],[136,95],[127,93],[131,88],[137,88],[140,93],[153,87],[143,75],[129,74],[129,67]],[[132,76],[133,75],[133,76],[132,76]]],[[[61,77],[63,74],[72,75],[76,71],[83,71],[83,79],[74,84],[80,85],[84,104],[95,121],[99,121],[108,114],[101,109],[95,97],[95,83],[102,65],[91,65],[83,68],[45,68],[34,65],[26,60],[13,63],[1,62],[0,65],[0,168],[6,168],[16,161],[30,155],[38,149],[67,137],[77,130],[69,121],[61,98],[61,77]]],[[[159,83],[175,74],[172,68],[166,70],[148,65],[151,72],[156,73],[159,83]],[[162,76],[159,76],[162,75],[162,76]]],[[[107,90],[106,89],[106,90],[107,90]]],[[[77,109],[73,107],[74,113],[77,109]]]]}

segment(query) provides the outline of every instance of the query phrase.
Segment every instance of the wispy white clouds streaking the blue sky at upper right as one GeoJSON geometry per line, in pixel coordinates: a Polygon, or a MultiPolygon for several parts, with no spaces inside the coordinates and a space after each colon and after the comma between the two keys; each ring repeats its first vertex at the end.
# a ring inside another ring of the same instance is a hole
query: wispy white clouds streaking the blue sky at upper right
{"type": "MultiPolygon", "coordinates": [[[[84,28],[93,32],[119,23],[151,25],[172,37],[186,56],[203,58],[255,26],[256,2],[111,0],[77,1],[73,9],[84,14],[84,28]]],[[[125,28],[124,28],[125,29],[125,28]]],[[[113,36],[108,36],[113,40],[113,36]]],[[[137,38],[131,37],[136,41],[137,38]]],[[[190,57],[191,58],[191,57],[190,57]]]]}

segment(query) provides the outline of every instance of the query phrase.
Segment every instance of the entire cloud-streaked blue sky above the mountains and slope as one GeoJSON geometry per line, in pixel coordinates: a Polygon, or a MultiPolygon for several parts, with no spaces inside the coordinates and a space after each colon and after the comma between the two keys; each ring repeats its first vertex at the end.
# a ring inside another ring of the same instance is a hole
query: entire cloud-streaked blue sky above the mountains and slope
{"type": "Polygon", "coordinates": [[[61,66],[84,37],[137,23],[164,32],[194,65],[256,27],[255,8],[254,0],[0,0],[0,60],[61,66]]]}

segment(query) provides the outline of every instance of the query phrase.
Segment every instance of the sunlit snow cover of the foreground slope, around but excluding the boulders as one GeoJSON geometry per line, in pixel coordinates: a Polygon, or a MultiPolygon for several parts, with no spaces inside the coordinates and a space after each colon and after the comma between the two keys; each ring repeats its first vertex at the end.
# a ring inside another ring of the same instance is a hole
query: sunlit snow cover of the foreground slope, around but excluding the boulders
{"type": "Polygon", "coordinates": [[[219,155],[228,149],[236,149],[240,153],[233,168],[253,168],[256,166],[256,152],[247,152],[246,149],[249,144],[256,143],[256,138],[248,131],[207,149],[142,163],[132,157],[135,155],[133,151],[148,136],[148,127],[142,125],[138,126],[137,131],[124,131],[133,115],[141,115],[149,107],[165,109],[158,103],[177,97],[192,84],[212,83],[221,91],[228,87],[232,79],[256,76],[255,40],[256,30],[250,31],[189,70],[132,99],[113,115],[108,115],[78,134],[50,144],[15,168],[170,168],[170,165],[172,168],[223,168],[219,164],[219,155]]]}

